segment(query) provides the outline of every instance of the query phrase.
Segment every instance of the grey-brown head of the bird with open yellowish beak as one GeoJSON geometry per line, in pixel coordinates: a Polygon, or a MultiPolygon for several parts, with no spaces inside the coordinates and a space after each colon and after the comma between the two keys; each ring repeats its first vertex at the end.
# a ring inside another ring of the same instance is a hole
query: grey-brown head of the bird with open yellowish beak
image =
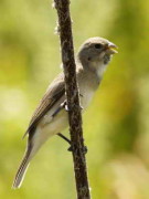
{"type": "Polygon", "coordinates": [[[91,38],[82,44],[77,59],[83,67],[100,72],[109,63],[117,46],[103,38],[91,38]]]}

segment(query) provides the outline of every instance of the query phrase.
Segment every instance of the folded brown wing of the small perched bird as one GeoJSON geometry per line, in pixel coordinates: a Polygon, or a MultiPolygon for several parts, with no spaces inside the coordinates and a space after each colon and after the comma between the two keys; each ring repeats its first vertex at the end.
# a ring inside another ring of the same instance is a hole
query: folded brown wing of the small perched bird
{"type": "MultiPolygon", "coordinates": [[[[31,122],[29,124],[28,130],[24,136],[29,133],[34,132],[40,119],[50,111],[51,107],[64,95],[65,85],[64,85],[64,75],[61,73],[49,86],[46,93],[41,100],[38,108],[33,113],[31,122]]],[[[24,137],[23,136],[23,137],[24,137]]]]}

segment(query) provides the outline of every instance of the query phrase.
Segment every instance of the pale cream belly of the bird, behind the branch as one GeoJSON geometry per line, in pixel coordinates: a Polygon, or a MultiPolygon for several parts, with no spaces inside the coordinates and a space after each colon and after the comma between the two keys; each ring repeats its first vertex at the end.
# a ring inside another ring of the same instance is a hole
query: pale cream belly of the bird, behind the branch
{"type": "MultiPolygon", "coordinates": [[[[89,102],[92,101],[94,92],[84,92],[81,90],[81,106],[86,109],[89,102]]],[[[43,145],[51,136],[62,133],[68,126],[68,114],[63,108],[54,117],[52,116],[55,109],[64,102],[64,98],[58,102],[47,114],[43,117],[41,123],[38,125],[36,132],[33,136],[33,154],[34,155],[41,145],[43,145]]]]}

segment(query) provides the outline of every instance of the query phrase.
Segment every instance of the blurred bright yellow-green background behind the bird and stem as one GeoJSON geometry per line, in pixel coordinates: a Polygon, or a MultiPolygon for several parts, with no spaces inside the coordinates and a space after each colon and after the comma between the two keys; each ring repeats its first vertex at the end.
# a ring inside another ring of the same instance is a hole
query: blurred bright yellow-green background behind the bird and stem
{"type": "MultiPolygon", "coordinates": [[[[31,115],[61,71],[56,11],[49,0],[0,0],[0,198],[74,199],[72,156],[57,136],[12,179],[31,115]]],[[[92,105],[84,136],[94,199],[149,198],[149,1],[72,0],[75,49],[91,36],[119,46],[92,105]]],[[[65,130],[66,133],[67,130],[65,130]]]]}

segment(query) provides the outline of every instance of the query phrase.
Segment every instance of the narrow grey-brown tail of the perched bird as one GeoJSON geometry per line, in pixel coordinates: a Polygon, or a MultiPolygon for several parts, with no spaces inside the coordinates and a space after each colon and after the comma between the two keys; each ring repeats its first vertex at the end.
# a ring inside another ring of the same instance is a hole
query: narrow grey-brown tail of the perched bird
{"type": "Polygon", "coordinates": [[[30,160],[31,160],[31,148],[28,147],[28,150],[20,164],[20,167],[17,171],[17,175],[15,175],[15,178],[14,178],[14,181],[13,181],[13,185],[12,185],[12,188],[13,189],[17,189],[17,188],[20,188],[23,179],[24,179],[24,176],[25,176],[25,172],[26,172],[26,169],[30,165],[30,160]]]}

